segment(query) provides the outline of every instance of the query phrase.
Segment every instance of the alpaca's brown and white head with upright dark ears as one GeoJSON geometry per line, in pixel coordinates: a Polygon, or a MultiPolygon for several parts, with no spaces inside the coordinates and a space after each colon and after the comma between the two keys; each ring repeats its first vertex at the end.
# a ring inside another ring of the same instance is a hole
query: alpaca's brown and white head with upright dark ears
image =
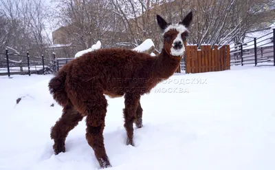
{"type": "Polygon", "coordinates": [[[192,11],[179,23],[167,23],[157,14],[157,24],[162,29],[164,37],[164,50],[170,56],[183,56],[186,49],[186,37],[192,21],[192,11]]]}

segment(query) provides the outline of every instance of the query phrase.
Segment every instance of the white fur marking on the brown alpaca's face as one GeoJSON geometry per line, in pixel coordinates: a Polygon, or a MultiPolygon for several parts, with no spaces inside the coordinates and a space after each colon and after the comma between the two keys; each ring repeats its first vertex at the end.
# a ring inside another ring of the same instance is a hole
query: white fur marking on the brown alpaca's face
{"type": "Polygon", "coordinates": [[[168,32],[169,30],[177,30],[177,32],[179,32],[179,34],[177,34],[177,37],[174,39],[173,41],[173,44],[172,44],[172,47],[170,49],[170,54],[172,56],[182,56],[185,52],[185,47],[184,47],[184,41],[181,39],[181,34],[183,32],[188,32],[187,28],[184,26],[184,25],[181,25],[181,24],[172,24],[172,25],[169,25],[165,30],[164,30],[164,33],[165,34],[166,32],[168,32]],[[182,44],[182,47],[181,49],[178,49],[178,50],[175,50],[175,43],[176,42],[180,42],[182,44]]]}

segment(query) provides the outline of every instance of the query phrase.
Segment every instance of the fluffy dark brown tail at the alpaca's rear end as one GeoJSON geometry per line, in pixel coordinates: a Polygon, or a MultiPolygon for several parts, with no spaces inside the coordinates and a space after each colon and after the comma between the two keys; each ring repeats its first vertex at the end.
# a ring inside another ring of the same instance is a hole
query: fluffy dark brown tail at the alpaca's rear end
{"type": "Polygon", "coordinates": [[[53,95],[54,100],[56,100],[56,102],[63,107],[65,107],[69,101],[67,92],[65,91],[65,80],[66,73],[59,72],[54,78],[50,80],[48,85],[50,94],[53,95]]]}

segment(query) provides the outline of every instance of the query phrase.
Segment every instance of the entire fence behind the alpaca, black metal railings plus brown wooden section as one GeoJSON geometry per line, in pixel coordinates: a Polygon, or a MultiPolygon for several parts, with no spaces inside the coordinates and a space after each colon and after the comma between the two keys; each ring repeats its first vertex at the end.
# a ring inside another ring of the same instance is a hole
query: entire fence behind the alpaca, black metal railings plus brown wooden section
{"type": "MultiPolygon", "coordinates": [[[[45,56],[31,56],[0,53],[0,75],[11,74],[45,74],[56,72],[63,65],[74,58],[56,59],[55,54],[51,59],[45,56]]],[[[176,72],[185,70],[186,73],[214,72],[229,70],[232,65],[273,65],[275,66],[275,29],[264,36],[254,38],[252,41],[234,45],[223,45],[214,49],[210,45],[187,45],[186,57],[181,61],[176,72]]]]}

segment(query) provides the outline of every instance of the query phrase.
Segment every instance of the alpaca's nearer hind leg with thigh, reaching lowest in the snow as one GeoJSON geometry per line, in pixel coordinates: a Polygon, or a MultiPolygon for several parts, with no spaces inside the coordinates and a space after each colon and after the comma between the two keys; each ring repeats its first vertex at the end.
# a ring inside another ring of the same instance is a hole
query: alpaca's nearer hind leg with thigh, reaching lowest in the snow
{"type": "Polygon", "coordinates": [[[69,93],[73,105],[86,118],[86,139],[94,149],[94,154],[101,168],[111,167],[104,147],[104,120],[107,113],[107,100],[100,83],[75,83],[69,93]],[[78,85],[80,84],[80,85],[78,85]]]}

